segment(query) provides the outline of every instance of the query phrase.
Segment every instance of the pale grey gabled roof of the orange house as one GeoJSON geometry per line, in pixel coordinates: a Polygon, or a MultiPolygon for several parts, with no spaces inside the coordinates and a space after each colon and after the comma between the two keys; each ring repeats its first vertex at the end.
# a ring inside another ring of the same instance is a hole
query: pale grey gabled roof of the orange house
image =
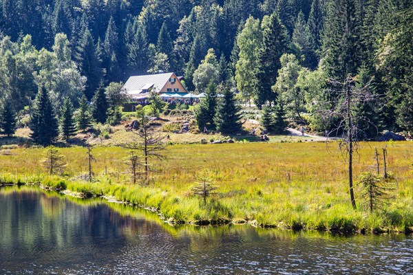
{"type": "Polygon", "coordinates": [[[149,89],[151,87],[153,87],[153,91],[158,92],[172,76],[173,73],[131,76],[125,83],[124,88],[128,94],[140,94],[142,89],[149,89]]]}

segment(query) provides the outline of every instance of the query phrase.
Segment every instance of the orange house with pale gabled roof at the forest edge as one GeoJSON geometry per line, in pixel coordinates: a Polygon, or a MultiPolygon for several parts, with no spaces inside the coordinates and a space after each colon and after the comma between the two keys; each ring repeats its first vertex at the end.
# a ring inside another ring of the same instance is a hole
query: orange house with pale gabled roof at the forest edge
{"type": "Polygon", "coordinates": [[[187,89],[180,82],[180,78],[174,73],[131,76],[123,87],[131,99],[142,98],[149,91],[154,91],[156,94],[188,93],[187,89]]]}

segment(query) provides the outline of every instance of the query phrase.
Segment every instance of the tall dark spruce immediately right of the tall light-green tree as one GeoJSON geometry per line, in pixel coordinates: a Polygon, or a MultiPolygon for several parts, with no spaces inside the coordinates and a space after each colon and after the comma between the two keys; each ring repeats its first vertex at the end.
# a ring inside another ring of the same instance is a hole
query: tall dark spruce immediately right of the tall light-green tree
{"type": "Polygon", "coordinates": [[[275,84],[278,70],[281,68],[281,58],[288,52],[289,42],[286,28],[279,21],[277,14],[269,17],[263,31],[263,46],[258,54],[257,82],[255,103],[261,107],[266,101],[275,100],[276,94],[271,87],[275,84]]]}

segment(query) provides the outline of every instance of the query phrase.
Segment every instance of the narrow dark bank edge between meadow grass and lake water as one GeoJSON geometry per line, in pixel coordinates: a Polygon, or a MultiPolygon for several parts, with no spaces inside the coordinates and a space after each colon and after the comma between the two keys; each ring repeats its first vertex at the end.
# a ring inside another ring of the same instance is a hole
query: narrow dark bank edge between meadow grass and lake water
{"type": "MultiPolygon", "coordinates": [[[[295,225],[288,225],[284,223],[284,221],[280,221],[278,224],[264,224],[264,223],[258,223],[257,220],[248,220],[248,219],[200,219],[200,220],[195,220],[195,221],[190,221],[190,220],[176,220],[173,217],[170,217],[169,219],[165,218],[165,215],[162,214],[162,209],[160,208],[153,208],[149,206],[145,206],[142,204],[138,203],[132,203],[131,201],[120,201],[116,199],[116,197],[111,196],[111,195],[96,195],[93,194],[91,190],[88,192],[76,192],[74,190],[69,190],[67,188],[54,188],[51,186],[45,186],[41,184],[40,182],[37,183],[3,183],[0,182],[0,188],[2,187],[11,187],[11,186],[35,186],[37,188],[40,188],[41,190],[49,190],[49,191],[54,191],[54,192],[59,192],[62,195],[68,196],[68,197],[76,197],[79,199],[94,199],[94,198],[102,198],[105,199],[108,203],[119,203],[119,204],[124,204],[126,206],[131,206],[131,207],[138,207],[140,209],[147,210],[149,212],[153,212],[158,215],[158,218],[163,221],[164,223],[167,223],[171,226],[175,225],[195,225],[195,226],[208,226],[208,225],[213,225],[213,226],[222,226],[222,225],[250,225],[255,228],[271,228],[271,229],[277,229],[277,230],[292,230],[295,232],[299,231],[317,231],[317,232],[329,232],[332,234],[412,234],[413,233],[413,228],[405,228],[405,231],[401,230],[396,230],[396,226],[393,226],[392,228],[357,228],[355,225],[350,226],[351,230],[349,229],[332,229],[332,228],[312,228],[308,227],[306,225],[302,225],[301,223],[295,224],[295,225]]],[[[339,217],[337,217],[339,218],[339,217]]]]}

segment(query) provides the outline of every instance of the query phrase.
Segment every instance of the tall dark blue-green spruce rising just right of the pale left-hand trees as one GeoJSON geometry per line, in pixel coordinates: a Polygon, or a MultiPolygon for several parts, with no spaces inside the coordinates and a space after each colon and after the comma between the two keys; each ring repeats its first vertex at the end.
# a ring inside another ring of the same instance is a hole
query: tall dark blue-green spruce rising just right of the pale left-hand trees
{"type": "Polygon", "coordinates": [[[105,71],[101,67],[98,47],[94,44],[94,38],[88,28],[85,28],[76,47],[76,59],[83,76],[87,77],[85,95],[90,100],[94,91],[99,87],[105,71]]]}

